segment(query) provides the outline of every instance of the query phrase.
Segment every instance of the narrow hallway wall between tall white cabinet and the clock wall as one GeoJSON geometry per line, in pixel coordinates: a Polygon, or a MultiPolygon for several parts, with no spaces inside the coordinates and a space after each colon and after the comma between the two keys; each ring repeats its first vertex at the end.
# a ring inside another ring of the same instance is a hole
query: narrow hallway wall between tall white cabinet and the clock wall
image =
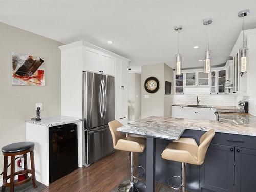
{"type": "Polygon", "coordinates": [[[136,121],[141,114],[141,74],[128,73],[128,120],[136,121]]]}

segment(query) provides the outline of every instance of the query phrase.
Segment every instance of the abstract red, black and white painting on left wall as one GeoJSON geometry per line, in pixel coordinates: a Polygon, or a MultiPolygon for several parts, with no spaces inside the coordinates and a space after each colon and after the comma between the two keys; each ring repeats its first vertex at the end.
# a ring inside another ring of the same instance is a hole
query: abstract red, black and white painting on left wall
{"type": "Polygon", "coordinates": [[[44,86],[44,58],[12,53],[12,84],[19,86],[44,86]]]}

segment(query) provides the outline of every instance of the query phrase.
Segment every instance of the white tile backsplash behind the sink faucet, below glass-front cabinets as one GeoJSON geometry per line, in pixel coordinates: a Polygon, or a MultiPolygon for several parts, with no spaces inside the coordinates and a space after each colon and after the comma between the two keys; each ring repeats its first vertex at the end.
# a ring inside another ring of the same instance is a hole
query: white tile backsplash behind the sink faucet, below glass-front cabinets
{"type": "Polygon", "coordinates": [[[200,105],[210,106],[237,106],[236,95],[209,94],[210,88],[185,88],[185,94],[174,97],[175,104],[197,104],[197,96],[200,105]]]}

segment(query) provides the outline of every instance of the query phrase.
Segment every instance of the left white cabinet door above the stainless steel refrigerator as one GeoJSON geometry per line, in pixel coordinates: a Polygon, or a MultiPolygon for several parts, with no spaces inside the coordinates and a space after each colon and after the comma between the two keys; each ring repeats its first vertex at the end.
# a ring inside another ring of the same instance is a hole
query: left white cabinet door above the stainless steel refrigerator
{"type": "Polygon", "coordinates": [[[100,71],[100,52],[94,49],[83,47],[83,70],[98,72],[100,71]]]}

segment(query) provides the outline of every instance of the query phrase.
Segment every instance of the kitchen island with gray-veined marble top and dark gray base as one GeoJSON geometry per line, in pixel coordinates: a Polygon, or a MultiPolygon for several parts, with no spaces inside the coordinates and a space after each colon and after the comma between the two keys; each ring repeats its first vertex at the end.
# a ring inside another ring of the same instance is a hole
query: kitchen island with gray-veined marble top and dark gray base
{"type": "MultiPolygon", "coordinates": [[[[253,116],[251,119],[254,120],[253,116]]],[[[201,135],[209,129],[215,129],[216,135],[204,164],[188,165],[188,191],[253,191],[255,186],[251,183],[256,183],[253,176],[256,172],[256,125],[253,123],[152,116],[119,127],[118,131],[147,137],[146,152],[139,154],[139,165],[146,165],[146,191],[155,191],[155,180],[166,184],[168,178],[181,172],[180,163],[161,158],[168,143],[180,137],[190,137],[199,144],[201,135]]]]}

